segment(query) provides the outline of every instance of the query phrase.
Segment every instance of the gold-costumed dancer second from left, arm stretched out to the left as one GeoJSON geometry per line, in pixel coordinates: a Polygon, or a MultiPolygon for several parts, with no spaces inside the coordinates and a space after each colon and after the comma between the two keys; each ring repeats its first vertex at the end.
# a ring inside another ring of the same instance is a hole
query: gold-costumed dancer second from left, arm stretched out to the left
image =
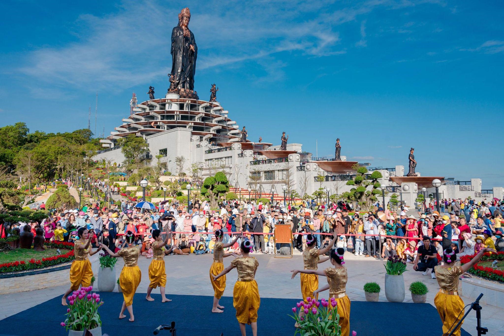
{"type": "Polygon", "coordinates": [[[133,296],[142,279],[142,272],[140,272],[140,268],[138,267],[140,246],[135,246],[133,244],[135,241],[135,234],[131,231],[126,233],[125,239],[128,243],[128,247],[121,248],[117,253],[113,253],[103,244],[101,244],[101,247],[107,250],[108,254],[111,256],[121,256],[124,259],[124,267],[122,267],[121,275],[119,276],[119,286],[121,286],[122,296],[124,297],[119,318],[126,317],[123,313],[124,309],[128,309],[130,313],[129,321],[133,322],[135,321],[135,316],[133,315],[133,296]]]}

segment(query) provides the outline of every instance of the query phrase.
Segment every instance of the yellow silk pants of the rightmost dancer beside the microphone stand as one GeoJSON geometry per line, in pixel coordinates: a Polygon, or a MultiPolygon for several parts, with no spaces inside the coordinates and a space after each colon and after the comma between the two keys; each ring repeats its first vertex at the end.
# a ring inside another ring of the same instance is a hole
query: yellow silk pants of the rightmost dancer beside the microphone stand
{"type": "MultiPolygon", "coordinates": [[[[464,301],[462,301],[458,295],[449,295],[438,292],[434,297],[434,305],[436,306],[439,317],[441,317],[441,321],[443,322],[443,335],[448,335],[450,327],[452,327],[452,325],[455,327],[459,321],[457,316],[459,316],[459,319],[464,316],[464,301]]],[[[455,336],[460,336],[461,326],[462,323],[453,333],[455,336]]]]}

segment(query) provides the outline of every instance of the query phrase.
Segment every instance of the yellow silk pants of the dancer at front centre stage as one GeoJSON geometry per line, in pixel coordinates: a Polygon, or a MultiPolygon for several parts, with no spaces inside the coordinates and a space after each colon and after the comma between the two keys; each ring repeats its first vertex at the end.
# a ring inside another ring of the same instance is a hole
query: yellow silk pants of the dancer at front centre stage
{"type": "Polygon", "coordinates": [[[261,304],[257,282],[237,281],[233,289],[233,307],[236,309],[238,323],[257,322],[257,311],[261,304]]]}

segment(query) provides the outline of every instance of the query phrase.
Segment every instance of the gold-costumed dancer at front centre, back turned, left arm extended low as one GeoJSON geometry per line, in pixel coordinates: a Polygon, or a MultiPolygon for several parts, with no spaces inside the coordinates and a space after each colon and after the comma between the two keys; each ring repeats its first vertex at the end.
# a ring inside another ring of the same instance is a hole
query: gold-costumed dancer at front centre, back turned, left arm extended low
{"type": "Polygon", "coordinates": [[[248,253],[252,247],[249,240],[241,243],[242,257],[231,261],[221,273],[213,276],[214,281],[224,277],[229,271],[236,267],[238,280],[233,289],[233,306],[236,309],[236,319],[240,325],[241,336],[246,336],[245,324],[250,324],[252,334],[257,336],[257,311],[261,304],[257,282],[254,280],[259,267],[259,262],[255,257],[249,257],[248,253]]]}

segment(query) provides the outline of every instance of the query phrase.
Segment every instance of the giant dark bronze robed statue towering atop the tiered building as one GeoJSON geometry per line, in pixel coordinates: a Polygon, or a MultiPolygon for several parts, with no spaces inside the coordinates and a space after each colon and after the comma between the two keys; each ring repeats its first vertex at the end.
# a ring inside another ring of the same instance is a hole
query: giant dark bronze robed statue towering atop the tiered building
{"type": "Polygon", "coordinates": [[[198,46],[194,34],[187,25],[191,20],[191,12],[184,8],[178,14],[178,26],[171,32],[171,73],[168,93],[177,93],[181,98],[198,99],[194,91],[194,75],[198,46]]]}

